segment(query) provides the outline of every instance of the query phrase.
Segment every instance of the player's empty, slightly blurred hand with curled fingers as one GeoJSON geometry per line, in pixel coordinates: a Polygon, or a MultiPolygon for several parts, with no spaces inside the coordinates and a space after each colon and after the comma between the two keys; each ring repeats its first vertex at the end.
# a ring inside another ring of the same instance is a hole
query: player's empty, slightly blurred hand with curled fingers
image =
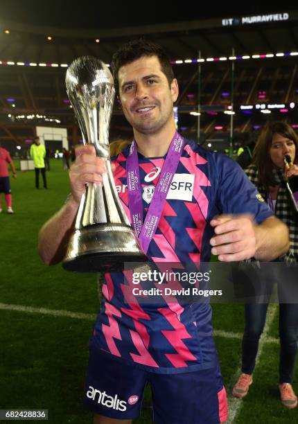
{"type": "Polygon", "coordinates": [[[218,260],[233,262],[249,259],[256,253],[255,224],[251,215],[220,215],[210,222],[215,236],[211,253],[218,260]]]}

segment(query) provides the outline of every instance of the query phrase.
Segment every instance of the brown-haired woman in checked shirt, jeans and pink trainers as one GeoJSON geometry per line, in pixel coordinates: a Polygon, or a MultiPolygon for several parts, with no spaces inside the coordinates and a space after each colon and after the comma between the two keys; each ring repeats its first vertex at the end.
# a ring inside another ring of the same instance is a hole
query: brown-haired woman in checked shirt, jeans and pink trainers
{"type": "Polygon", "coordinates": [[[245,173],[258,188],[263,199],[280,220],[285,222],[290,233],[290,249],[270,266],[261,266],[254,272],[254,289],[258,296],[254,303],[245,304],[245,330],[243,334],[242,373],[233,389],[234,396],[244,398],[252,384],[258,340],[263,332],[266,313],[274,279],[278,282],[279,294],[279,391],[284,407],[295,408],[297,396],[292,389],[292,376],[297,355],[298,332],[298,215],[286,188],[287,179],[298,176],[298,137],[292,127],[284,122],[268,123],[254,148],[254,157],[245,173]],[[284,158],[288,154],[292,161],[285,169],[284,158]],[[296,270],[295,270],[296,268],[296,270]],[[295,303],[294,303],[295,302],[295,303]]]}

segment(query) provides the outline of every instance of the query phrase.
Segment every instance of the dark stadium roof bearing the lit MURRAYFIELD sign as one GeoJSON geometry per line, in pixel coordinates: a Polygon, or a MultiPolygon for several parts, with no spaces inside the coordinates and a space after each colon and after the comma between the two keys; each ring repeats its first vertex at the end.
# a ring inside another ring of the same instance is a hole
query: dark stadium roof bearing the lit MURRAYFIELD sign
{"type": "Polygon", "coordinates": [[[60,64],[87,53],[110,62],[121,43],[141,36],[155,39],[173,60],[196,58],[198,51],[203,58],[227,56],[232,48],[236,55],[298,50],[298,10],[284,2],[282,8],[237,12],[167,2],[162,9],[155,3],[109,3],[31,0],[0,6],[0,60],[60,64]]]}

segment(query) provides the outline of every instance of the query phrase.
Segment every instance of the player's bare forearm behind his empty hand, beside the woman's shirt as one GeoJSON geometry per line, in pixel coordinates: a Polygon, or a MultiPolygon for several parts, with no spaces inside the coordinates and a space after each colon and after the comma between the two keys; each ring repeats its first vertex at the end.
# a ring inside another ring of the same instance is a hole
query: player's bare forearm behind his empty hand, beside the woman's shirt
{"type": "Polygon", "coordinates": [[[272,216],[255,227],[258,260],[274,260],[289,249],[289,231],[286,224],[272,216]]]}

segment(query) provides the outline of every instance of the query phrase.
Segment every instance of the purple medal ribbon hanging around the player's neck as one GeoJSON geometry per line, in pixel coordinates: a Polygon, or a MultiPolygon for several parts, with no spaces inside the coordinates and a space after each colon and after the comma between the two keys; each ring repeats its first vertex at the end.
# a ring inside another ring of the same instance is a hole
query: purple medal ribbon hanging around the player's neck
{"type": "Polygon", "coordinates": [[[132,227],[139,236],[139,242],[145,254],[148,251],[150,241],[155,235],[161,217],[161,211],[164,208],[164,202],[177,170],[184,144],[184,138],[176,131],[170,143],[164,166],[161,169],[159,182],[155,187],[155,192],[143,223],[139,160],[136,142],[135,140],[132,141],[130,154],[126,161],[126,171],[128,175],[128,207],[130,209],[130,216],[132,217],[132,227]]]}

